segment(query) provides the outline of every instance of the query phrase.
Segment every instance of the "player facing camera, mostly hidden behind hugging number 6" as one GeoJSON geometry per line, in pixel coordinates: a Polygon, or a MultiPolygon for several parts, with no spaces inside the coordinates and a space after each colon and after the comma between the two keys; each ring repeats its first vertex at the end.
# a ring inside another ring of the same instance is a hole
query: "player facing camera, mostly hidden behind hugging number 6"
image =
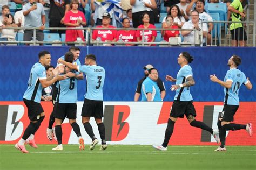
{"type": "MultiPolygon", "coordinates": [[[[69,48],[69,52],[72,52],[73,55],[74,55],[73,64],[81,66],[81,62],[79,60],[80,49],[78,47],[76,47],[76,46],[71,46],[69,48]]],[[[65,59],[64,55],[61,57],[61,59],[63,59],[63,60],[65,59]]],[[[66,69],[66,70],[68,71],[68,69],[66,69]]],[[[75,70],[72,70],[72,72],[76,73],[75,70]]],[[[84,79],[83,73],[79,73],[79,74],[77,74],[77,73],[75,75],[75,78],[78,79],[78,80],[83,80],[84,79]]],[[[56,97],[57,97],[57,94],[58,94],[58,87],[59,87],[58,82],[55,82],[54,86],[53,86],[53,94],[52,94],[52,104],[53,104],[53,107],[54,107],[55,102],[56,102],[56,97]]],[[[48,140],[50,140],[50,141],[52,141],[52,138],[55,141],[57,141],[56,134],[55,134],[55,128],[52,128],[52,125],[55,122],[55,117],[53,116],[53,111],[54,111],[54,109],[52,110],[51,115],[50,115],[49,125],[48,125],[48,128],[46,129],[46,136],[47,136],[48,140]]]]}

